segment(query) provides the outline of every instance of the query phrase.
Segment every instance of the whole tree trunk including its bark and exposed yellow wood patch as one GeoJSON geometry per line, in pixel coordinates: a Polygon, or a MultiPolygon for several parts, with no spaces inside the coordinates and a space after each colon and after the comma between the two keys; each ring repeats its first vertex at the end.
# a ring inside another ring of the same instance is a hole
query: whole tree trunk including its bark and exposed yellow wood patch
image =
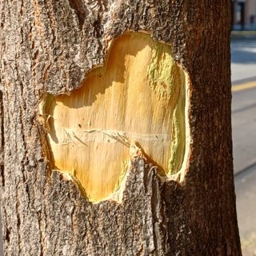
{"type": "Polygon", "coordinates": [[[0,6],[5,254],[241,255],[230,1],[0,6]]]}

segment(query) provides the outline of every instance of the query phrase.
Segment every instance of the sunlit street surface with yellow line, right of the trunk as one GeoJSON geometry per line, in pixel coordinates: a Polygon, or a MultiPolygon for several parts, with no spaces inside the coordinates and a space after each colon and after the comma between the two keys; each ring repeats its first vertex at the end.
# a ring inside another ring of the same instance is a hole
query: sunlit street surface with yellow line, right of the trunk
{"type": "Polygon", "coordinates": [[[243,256],[256,255],[256,38],[231,42],[234,185],[243,256]]]}

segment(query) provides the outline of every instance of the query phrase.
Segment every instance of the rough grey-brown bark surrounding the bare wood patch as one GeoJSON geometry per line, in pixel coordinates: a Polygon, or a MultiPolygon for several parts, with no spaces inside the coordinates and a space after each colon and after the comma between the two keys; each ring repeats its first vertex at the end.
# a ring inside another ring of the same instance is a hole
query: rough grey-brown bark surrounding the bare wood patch
{"type": "Polygon", "coordinates": [[[5,255],[241,255],[230,127],[230,1],[0,2],[5,255]],[[107,42],[146,30],[190,77],[183,182],[135,159],[122,204],[82,198],[48,170],[38,104],[102,64],[107,42]],[[51,175],[49,175],[51,174],[51,175]]]}

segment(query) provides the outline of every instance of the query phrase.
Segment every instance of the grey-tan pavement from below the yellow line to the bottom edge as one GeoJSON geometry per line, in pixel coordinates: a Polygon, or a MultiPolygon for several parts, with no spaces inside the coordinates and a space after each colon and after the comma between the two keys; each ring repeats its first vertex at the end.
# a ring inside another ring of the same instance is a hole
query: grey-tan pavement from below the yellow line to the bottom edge
{"type": "Polygon", "coordinates": [[[242,254],[253,256],[256,255],[256,87],[233,93],[232,127],[242,254]]]}

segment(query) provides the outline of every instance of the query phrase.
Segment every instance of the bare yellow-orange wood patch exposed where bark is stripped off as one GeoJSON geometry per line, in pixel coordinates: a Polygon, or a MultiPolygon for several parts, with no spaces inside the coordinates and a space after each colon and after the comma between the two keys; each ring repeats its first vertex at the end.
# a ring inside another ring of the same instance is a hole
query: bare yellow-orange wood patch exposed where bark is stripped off
{"type": "Polygon", "coordinates": [[[49,159],[98,202],[121,185],[134,141],[160,174],[180,170],[186,147],[186,75],[171,47],[144,33],[114,40],[104,66],[70,95],[45,95],[49,159]]]}

